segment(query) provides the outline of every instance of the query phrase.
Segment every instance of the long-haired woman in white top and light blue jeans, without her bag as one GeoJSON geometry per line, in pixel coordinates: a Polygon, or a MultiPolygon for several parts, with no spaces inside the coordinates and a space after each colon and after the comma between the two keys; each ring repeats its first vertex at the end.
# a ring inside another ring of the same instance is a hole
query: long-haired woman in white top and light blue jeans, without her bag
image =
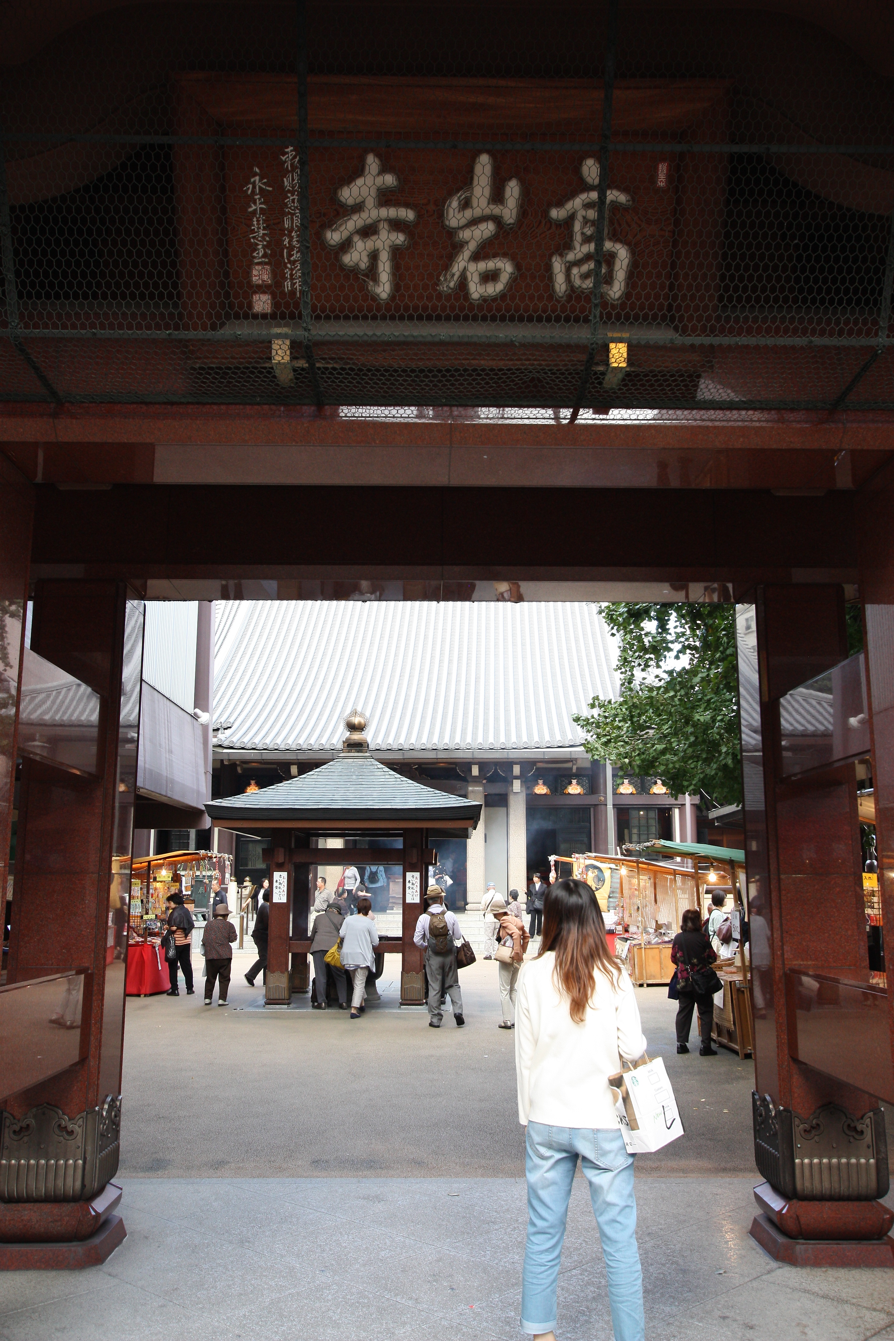
{"type": "Polygon", "coordinates": [[[592,890],[551,885],[543,940],[524,964],[516,1007],[519,1121],[527,1126],[528,1236],[521,1330],[555,1341],[559,1257],[580,1157],[609,1275],[617,1341],[643,1341],[633,1155],[609,1077],[646,1050],[633,984],[609,951],[592,890]]]}

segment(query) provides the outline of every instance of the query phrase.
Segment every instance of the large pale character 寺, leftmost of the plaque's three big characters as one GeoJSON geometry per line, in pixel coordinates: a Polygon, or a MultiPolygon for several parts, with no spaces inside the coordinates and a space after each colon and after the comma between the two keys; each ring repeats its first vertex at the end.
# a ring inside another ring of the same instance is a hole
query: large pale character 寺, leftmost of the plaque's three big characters
{"type": "Polygon", "coordinates": [[[397,176],[382,172],[382,164],[375,154],[367,154],[361,176],[346,186],[339,186],[336,198],[354,211],[327,228],[323,240],[327,247],[340,247],[350,240],[340,261],[346,270],[357,270],[366,275],[375,257],[374,274],[366,280],[369,291],[386,303],[394,294],[394,263],[391,253],[395,247],[406,247],[407,235],[391,224],[414,224],[416,211],[406,205],[379,205],[379,192],[399,186],[397,176]]]}

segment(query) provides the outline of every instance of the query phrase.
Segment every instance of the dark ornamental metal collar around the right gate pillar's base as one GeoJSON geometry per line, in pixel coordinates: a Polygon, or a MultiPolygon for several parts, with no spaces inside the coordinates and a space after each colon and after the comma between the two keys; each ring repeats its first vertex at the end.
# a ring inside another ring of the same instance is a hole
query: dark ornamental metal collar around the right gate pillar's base
{"type": "Polygon", "coordinates": [[[755,1163],[771,1187],[799,1202],[873,1202],[889,1189],[885,1113],[852,1117],[824,1104],[811,1117],[752,1090],[755,1163]]]}

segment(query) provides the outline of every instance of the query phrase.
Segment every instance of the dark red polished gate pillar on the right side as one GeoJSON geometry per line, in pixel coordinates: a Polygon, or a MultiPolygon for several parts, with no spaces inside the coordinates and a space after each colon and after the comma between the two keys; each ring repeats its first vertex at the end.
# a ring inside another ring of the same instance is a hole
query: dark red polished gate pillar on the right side
{"type": "Polygon", "coordinates": [[[873,1046],[860,1037],[859,1016],[858,1027],[848,1029],[859,992],[846,984],[867,978],[854,764],[796,780],[784,780],[780,772],[779,700],[847,656],[843,590],[765,586],[751,597],[752,603],[739,606],[737,621],[755,1157],[768,1180],[759,1195],[765,1214],[752,1234],[788,1262],[871,1265],[881,1255],[881,1263],[894,1265],[890,1240],[879,1242],[890,1212],[873,1195],[843,1192],[839,1176],[842,1155],[854,1156],[855,1168],[871,1155],[869,1183],[875,1177],[877,1184],[869,1191],[887,1191],[878,1097],[852,1082],[855,1070],[846,1055],[873,1046]],[[799,1037],[804,1010],[812,1011],[814,1065],[800,1055],[807,1050],[799,1037]]]}

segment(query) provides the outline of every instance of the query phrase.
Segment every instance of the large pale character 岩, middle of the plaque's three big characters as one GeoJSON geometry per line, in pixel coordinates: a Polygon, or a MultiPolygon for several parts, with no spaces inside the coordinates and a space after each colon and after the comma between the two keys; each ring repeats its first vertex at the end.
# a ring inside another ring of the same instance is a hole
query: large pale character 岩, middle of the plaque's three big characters
{"type": "Polygon", "coordinates": [[[464,275],[473,303],[499,298],[512,283],[516,264],[508,256],[472,259],[483,243],[496,236],[500,224],[504,228],[515,225],[521,205],[521,182],[517,177],[509,177],[503,188],[503,204],[492,196],[493,158],[491,154],[478,154],[472,169],[472,185],[450,196],[444,207],[444,227],[453,232],[460,249],[438,282],[442,294],[452,294],[464,275]]]}

